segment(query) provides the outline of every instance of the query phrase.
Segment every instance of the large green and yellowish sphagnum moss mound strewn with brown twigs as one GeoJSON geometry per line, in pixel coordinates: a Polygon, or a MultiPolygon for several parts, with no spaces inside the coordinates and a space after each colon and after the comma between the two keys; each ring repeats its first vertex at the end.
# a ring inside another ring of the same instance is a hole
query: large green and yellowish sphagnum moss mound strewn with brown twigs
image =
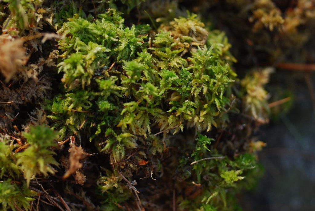
{"type": "MultiPolygon", "coordinates": [[[[95,11],[106,11],[94,17],[73,1],[4,2],[2,24],[17,28],[5,31],[12,39],[6,42],[44,24],[64,38],[51,41],[59,51],[38,48],[39,58],[3,84],[7,98],[15,96],[1,108],[12,120],[0,129],[3,209],[35,209],[34,199],[46,209],[39,196],[73,210],[238,209],[235,194],[260,172],[249,143],[255,119],[266,118],[268,71],[239,82],[224,33],[208,31],[195,14],[152,30],[125,26],[115,1],[100,1],[95,11]],[[25,72],[35,63],[36,72],[25,72]],[[53,80],[39,83],[43,77],[62,77],[60,88],[52,90],[53,80]],[[19,82],[36,82],[33,95],[23,88],[18,96],[10,87],[19,82]],[[13,115],[23,103],[32,107],[29,119],[13,115]]],[[[141,1],[121,2],[130,12],[141,1]]]]}

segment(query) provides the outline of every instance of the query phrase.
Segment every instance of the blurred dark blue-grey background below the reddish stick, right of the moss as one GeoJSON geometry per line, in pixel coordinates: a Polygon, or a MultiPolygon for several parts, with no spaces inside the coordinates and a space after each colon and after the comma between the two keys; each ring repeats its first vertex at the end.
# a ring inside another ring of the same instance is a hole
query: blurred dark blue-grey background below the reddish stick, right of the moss
{"type": "Polygon", "coordinates": [[[257,187],[240,195],[244,211],[315,210],[315,118],[313,73],[276,70],[269,88],[292,93],[287,112],[272,114],[257,137],[267,143],[258,153],[264,174],[257,187]],[[309,84],[311,81],[311,84],[309,84]]]}

